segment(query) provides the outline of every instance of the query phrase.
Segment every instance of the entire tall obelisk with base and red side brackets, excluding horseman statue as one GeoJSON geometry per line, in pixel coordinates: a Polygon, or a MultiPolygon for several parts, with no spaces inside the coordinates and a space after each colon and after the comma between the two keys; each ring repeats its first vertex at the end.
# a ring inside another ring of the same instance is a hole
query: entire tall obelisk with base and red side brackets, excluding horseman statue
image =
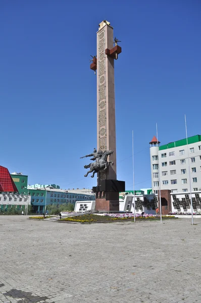
{"type": "Polygon", "coordinates": [[[113,27],[104,20],[97,31],[97,58],[93,57],[90,68],[97,70],[97,149],[113,150],[107,170],[97,173],[95,210],[119,211],[119,191],[125,191],[125,182],[117,180],[116,125],[115,125],[115,77],[114,60],[121,47],[113,38],[113,27]],[[115,43],[115,46],[113,45],[115,43]]]}

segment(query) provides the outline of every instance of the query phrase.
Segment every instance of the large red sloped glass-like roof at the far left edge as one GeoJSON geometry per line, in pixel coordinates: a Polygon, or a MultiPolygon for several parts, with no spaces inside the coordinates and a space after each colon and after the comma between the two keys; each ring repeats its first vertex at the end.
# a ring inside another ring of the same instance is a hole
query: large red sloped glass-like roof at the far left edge
{"type": "Polygon", "coordinates": [[[18,191],[9,170],[0,165],[0,191],[18,191]]]}

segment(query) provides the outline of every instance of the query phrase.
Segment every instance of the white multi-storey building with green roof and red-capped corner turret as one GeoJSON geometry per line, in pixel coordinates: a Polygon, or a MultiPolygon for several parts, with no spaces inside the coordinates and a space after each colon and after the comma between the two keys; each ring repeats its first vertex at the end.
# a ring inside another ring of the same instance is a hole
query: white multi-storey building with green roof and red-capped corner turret
{"type": "Polygon", "coordinates": [[[150,142],[150,164],[153,193],[170,189],[172,193],[201,190],[201,136],[159,146],[156,137],[150,142]],[[190,172],[188,168],[188,161],[190,172]],[[161,182],[161,184],[160,184],[161,182]]]}

